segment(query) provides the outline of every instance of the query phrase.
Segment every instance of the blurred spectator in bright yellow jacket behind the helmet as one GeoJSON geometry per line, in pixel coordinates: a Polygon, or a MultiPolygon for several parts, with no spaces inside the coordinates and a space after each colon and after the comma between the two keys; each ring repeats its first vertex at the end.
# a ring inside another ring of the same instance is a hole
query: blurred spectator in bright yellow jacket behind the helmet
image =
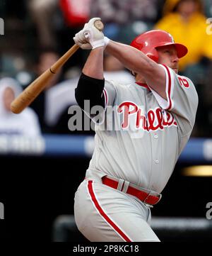
{"type": "Polygon", "coordinates": [[[204,79],[208,60],[212,59],[212,36],[206,33],[208,24],[202,10],[200,0],[167,0],[165,16],[155,25],[187,45],[189,52],[179,62],[179,70],[192,77],[194,83],[204,79]]]}

